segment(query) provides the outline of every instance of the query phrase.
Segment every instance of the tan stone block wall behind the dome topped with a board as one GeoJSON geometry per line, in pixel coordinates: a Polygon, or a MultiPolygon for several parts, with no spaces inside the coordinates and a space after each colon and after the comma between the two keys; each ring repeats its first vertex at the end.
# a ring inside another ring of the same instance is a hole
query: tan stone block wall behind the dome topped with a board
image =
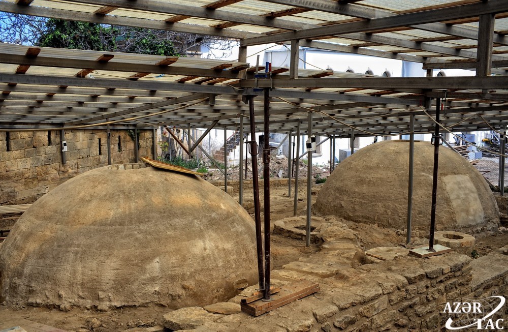
{"type": "MultiPolygon", "coordinates": [[[[104,130],[67,130],[66,164],[59,131],[0,132],[0,204],[36,201],[67,179],[108,165],[104,130]]],[[[152,156],[152,131],[139,131],[139,156],[152,156]]],[[[134,162],[134,141],[125,130],[111,131],[111,163],[134,162]]]]}

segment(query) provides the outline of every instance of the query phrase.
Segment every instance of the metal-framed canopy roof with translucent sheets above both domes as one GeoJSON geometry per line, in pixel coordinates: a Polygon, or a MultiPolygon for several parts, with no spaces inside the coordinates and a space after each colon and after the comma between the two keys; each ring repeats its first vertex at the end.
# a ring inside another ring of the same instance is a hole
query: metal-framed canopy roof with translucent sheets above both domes
{"type": "MultiPolygon", "coordinates": [[[[433,121],[422,112],[421,105],[426,98],[443,98],[444,91],[448,97],[443,124],[458,124],[454,130],[490,129],[475,114],[482,114],[496,126],[508,120],[508,90],[501,89],[508,86],[504,69],[508,67],[508,56],[502,55],[508,45],[508,37],[503,33],[508,31],[508,24],[500,20],[500,28],[490,32],[492,38],[482,46],[471,41],[482,39],[485,31],[482,35],[473,25],[461,24],[479,20],[481,23],[482,16],[484,23],[488,22],[493,29],[495,18],[508,17],[505,1],[436,2],[425,8],[419,8],[416,1],[408,1],[410,10],[389,9],[383,3],[376,8],[367,7],[361,2],[344,0],[250,2],[258,3],[259,9],[253,9],[250,3],[249,9],[244,8],[241,0],[201,3],[200,7],[171,0],[164,3],[76,0],[54,7],[53,1],[48,0],[44,5],[47,7],[34,7],[37,3],[18,0],[0,2],[0,10],[234,38],[241,40],[241,46],[291,44],[292,40],[299,40],[300,46],[418,62],[424,68],[459,67],[498,75],[381,78],[300,70],[296,76],[292,74],[298,78],[291,79],[288,68],[273,68],[278,74],[272,79],[258,80],[258,87],[272,89],[272,131],[294,131],[297,122],[306,123],[309,107],[315,105],[316,111],[324,112],[320,115],[323,119],[314,123],[316,133],[339,133],[346,137],[350,132],[346,124],[373,133],[402,132],[408,130],[411,114],[416,116],[417,131],[430,131],[433,121]],[[90,12],[89,8],[83,10],[84,5],[97,7],[90,12]],[[226,10],[227,6],[231,9],[226,10]],[[146,13],[154,13],[153,19],[146,19],[146,13]],[[203,20],[196,24],[198,18],[203,20]],[[496,50],[492,44],[498,46],[496,50]],[[342,123],[326,114],[335,114],[332,116],[342,123]]],[[[252,90],[253,71],[241,62],[0,44],[0,63],[8,68],[0,70],[0,130],[8,126],[22,128],[33,122],[51,128],[61,123],[73,126],[152,113],[161,114],[140,118],[140,126],[203,128],[216,123],[217,127],[237,129],[238,113],[247,109],[241,97],[262,94],[252,90]],[[30,57],[29,51],[37,54],[30,57]],[[200,102],[208,97],[216,98],[213,105],[200,102]]],[[[255,111],[261,115],[261,98],[257,100],[255,111]]],[[[134,124],[125,122],[126,126],[134,124]]],[[[257,124],[262,124],[262,117],[257,124]]],[[[362,135],[366,134],[360,132],[357,136],[362,135]]]]}

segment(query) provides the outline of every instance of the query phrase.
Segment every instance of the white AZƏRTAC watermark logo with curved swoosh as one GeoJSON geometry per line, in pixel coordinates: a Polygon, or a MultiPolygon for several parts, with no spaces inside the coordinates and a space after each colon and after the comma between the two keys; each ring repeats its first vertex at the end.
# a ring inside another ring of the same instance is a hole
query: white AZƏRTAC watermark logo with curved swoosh
{"type": "MultiPolygon", "coordinates": [[[[444,324],[448,330],[464,328],[499,331],[505,329],[503,310],[506,299],[503,296],[475,297],[468,301],[447,303],[443,313],[450,314],[444,324]]],[[[508,330],[508,329],[507,329],[508,330]]]]}

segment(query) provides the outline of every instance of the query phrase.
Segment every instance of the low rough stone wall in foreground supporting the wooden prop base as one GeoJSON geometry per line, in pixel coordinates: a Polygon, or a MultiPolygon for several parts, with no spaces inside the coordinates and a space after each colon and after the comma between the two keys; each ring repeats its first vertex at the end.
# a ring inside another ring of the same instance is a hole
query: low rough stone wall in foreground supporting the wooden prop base
{"type": "MultiPolygon", "coordinates": [[[[300,222],[304,220],[302,217],[300,222]]],[[[362,260],[358,233],[333,219],[321,220],[313,233],[324,241],[321,250],[273,270],[272,285],[283,287],[305,279],[319,282],[320,292],[254,319],[238,312],[240,300],[258,287],[254,285],[229,303],[215,305],[228,308],[235,303],[237,313],[209,315],[196,323],[196,312],[226,312],[205,307],[192,308],[194,312],[188,314],[189,308],[184,308],[165,315],[164,325],[179,330],[192,322],[196,332],[436,332],[446,330],[449,318],[455,326],[464,323],[460,320],[464,316],[444,312],[448,303],[454,308],[454,303],[474,301],[475,297],[508,295],[508,255],[503,254],[508,246],[476,260],[456,252],[425,259],[406,254],[358,266],[362,260]]]]}

